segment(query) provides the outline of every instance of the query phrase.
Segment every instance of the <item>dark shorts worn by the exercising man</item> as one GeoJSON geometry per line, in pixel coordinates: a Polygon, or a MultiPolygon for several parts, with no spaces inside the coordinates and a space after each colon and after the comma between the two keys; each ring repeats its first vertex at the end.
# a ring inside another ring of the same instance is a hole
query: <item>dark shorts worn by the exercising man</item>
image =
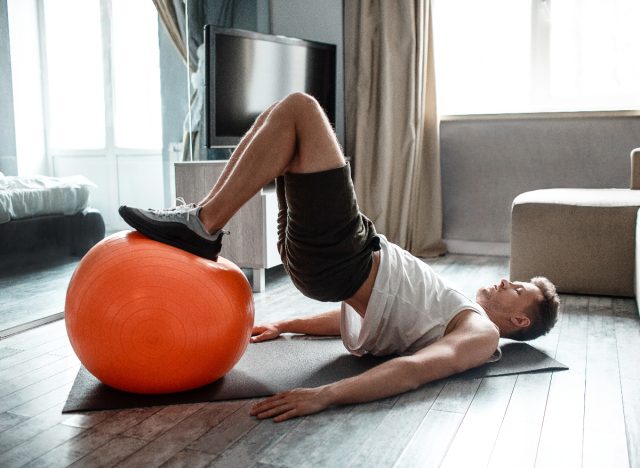
{"type": "Polygon", "coordinates": [[[293,284],[307,297],[352,297],[380,250],[373,223],[358,208],[349,165],[276,180],[278,250],[293,284]]]}

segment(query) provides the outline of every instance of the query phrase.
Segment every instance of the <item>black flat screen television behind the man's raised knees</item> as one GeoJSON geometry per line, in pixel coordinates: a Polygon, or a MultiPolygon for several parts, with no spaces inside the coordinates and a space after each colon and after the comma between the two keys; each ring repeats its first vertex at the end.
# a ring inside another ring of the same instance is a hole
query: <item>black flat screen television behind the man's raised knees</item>
{"type": "Polygon", "coordinates": [[[336,46],[205,26],[205,145],[235,146],[273,102],[303,91],[335,127],[336,46]]]}

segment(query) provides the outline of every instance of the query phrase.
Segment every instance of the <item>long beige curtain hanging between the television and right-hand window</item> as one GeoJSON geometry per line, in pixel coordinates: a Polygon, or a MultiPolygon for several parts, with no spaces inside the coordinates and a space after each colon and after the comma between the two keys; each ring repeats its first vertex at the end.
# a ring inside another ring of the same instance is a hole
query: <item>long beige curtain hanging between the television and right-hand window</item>
{"type": "Polygon", "coordinates": [[[445,253],[429,0],[345,2],[347,155],[362,211],[420,257],[445,253]]]}

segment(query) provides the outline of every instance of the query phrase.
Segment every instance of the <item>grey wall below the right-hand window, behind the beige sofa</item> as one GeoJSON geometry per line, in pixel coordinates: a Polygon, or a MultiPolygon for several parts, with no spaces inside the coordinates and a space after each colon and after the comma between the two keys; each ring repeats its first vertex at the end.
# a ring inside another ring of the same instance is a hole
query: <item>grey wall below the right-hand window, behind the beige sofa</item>
{"type": "Polygon", "coordinates": [[[458,118],[440,125],[444,238],[450,251],[509,253],[511,203],[552,187],[629,186],[640,115],[458,118]]]}

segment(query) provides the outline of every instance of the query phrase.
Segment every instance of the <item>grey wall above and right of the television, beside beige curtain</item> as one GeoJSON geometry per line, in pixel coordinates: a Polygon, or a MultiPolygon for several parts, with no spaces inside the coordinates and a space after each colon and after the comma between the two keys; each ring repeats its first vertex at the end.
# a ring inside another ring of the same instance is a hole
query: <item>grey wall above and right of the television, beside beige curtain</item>
{"type": "Polygon", "coordinates": [[[336,134],[344,147],[342,0],[271,0],[272,33],[336,45],[336,134]]]}

